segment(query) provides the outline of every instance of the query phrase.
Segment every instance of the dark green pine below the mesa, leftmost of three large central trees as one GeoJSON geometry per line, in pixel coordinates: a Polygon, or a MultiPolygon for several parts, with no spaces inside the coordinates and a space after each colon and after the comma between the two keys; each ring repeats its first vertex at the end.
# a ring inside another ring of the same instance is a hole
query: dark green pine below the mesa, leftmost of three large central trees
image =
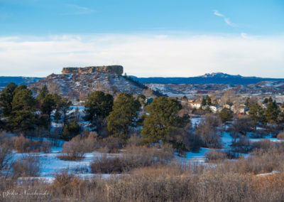
{"type": "Polygon", "coordinates": [[[114,105],[114,97],[112,95],[105,95],[102,91],[95,91],[88,95],[85,104],[85,120],[89,121],[93,127],[96,127],[100,133],[104,119],[109,115],[114,105]]]}

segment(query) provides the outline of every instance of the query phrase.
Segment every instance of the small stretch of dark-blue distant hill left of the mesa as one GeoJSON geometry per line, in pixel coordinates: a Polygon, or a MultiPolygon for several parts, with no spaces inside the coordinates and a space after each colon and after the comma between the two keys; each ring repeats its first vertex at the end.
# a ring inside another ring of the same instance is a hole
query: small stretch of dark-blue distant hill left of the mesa
{"type": "Polygon", "coordinates": [[[43,78],[37,77],[16,77],[16,76],[0,76],[0,90],[6,87],[9,83],[16,83],[16,85],[30,85],[36,83],[43,78]]]}

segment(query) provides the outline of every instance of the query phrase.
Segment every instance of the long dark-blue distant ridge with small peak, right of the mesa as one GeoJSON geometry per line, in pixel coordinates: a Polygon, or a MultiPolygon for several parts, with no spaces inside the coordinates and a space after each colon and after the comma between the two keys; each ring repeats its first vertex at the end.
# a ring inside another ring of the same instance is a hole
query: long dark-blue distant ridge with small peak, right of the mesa
{"type": "Polygon", "coordinates": [[[138,78],[131,76],[133,80],[138,80],[140,83],[172,83],[172,84],[231,84],[231,85],[249,85],[256,84],[261,81],[284,81],[284,78],[258,78],[258,77],[243,77],[241,75],[229,75],[226,73],[207,73],[197,77],[189,78],[138,78]]]}

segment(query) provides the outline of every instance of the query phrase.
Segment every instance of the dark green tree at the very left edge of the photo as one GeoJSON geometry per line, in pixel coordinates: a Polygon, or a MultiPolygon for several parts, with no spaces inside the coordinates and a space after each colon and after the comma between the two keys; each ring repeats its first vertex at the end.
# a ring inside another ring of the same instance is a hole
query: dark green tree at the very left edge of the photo
{"type": "Polygon", "coordinates": [[[9,117],[12,112],[12,101],[15,95],[17,85],[14,83],[9,83],[0,95],[0,107],[4,117],[9,117]]]}

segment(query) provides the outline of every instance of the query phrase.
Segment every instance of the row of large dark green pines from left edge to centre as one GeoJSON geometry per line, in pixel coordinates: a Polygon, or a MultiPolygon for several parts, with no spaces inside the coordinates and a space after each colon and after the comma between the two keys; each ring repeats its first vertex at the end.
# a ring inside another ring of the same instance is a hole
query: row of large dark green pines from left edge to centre
{"type": "MultiPolygon", "coordinates": [[[[44,86],[36,97],[26,85],[10,83],[1,92],[0,107],[4,128],[15,132],[30,132],[35,129],[50,130],[51,123],[62,122],[62,138],[71,139],[80,134],[80,125],[75,116],[70,115],[72,102],[44,86]]],[[[100,137],[113,136],[126,143],[131,132],[142,127],[144,144],[163,142],[174,147],[185,147],[178,142],[174,131],[182,129],[190,122],[188,115],[180,116],[182,105],[169,97],[158,97],[151,105],[146,105],[145,95],[134,97],[120,93],[114,100],[102,91],[91,92],[85,102],[84,121],[100,137]],[[145,105],[147,113],[141,114],[145,105]]]]}

